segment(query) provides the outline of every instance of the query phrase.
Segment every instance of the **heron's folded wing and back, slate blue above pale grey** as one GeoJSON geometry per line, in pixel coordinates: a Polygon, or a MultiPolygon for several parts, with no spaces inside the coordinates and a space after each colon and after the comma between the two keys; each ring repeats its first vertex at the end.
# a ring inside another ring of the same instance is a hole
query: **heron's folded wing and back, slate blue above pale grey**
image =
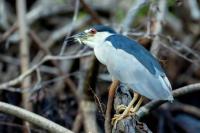
{"type": "Polygon", "coordinates": [[[112,39],[108,38],[107,43],[114,48],[103,54],[110,56],[105,64],[113,78],[149,99],[173,100],[171,85],[158,61],[142,46],[124,46],[139,45],[134,41],[122,37],[115,44],[110,43],[112,39]]]}

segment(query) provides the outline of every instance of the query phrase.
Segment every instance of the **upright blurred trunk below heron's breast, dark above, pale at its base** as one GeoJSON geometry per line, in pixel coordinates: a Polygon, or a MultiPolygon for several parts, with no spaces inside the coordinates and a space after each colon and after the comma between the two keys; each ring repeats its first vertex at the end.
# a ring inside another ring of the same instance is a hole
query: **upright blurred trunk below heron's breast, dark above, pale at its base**
{"type": "Polygon", "coordinates": [[[96,121],[96,104],[93,97],[93,89],[96,87],[99,62],[93,56],[81,60],[81,71],[85,71],[79,79],[79,90],[83,93],[80,110],[83,115],[83,124],[85,132],[98,133],[98,124],[96,121]],[[86,61],[87,60],[87,61],[86,61]]]}

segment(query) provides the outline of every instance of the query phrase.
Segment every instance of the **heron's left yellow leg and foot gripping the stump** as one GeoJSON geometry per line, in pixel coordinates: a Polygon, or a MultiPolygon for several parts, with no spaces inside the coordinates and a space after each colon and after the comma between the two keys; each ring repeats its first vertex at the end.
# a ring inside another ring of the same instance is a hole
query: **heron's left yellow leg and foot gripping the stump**
{"type": "MultiPolygon", "coordinates": [[[[114,127],[116,127],[116,124],[119,120],[125,118],[131,110],[135,110],[135,107],[132,109],[132,106],[133,104],[137,101],[139,97],[139,94],[138,93],[134,93],[134,97],[133,99],[131,100],[131,102],[129,103],[128,107],[126,107],[126,109],[124,110],[124,112],[122,114],[119,114],[119,115],[115,115],[114,118],[112,119],[112,124],[114,124],[114,127]]],[[[140,98],[141,99],[141,98],[140,98]]],[[[142,102],[141,100],[139,100],[139,102],[142,102]]],[[[136,107],[139,108],[138,106],[138,103],[136,104],[136,107]]],[[[139,105],[141,105],[141,103],[139,103],[139,105]]],[[[131,111],[132,112],[132,111],[131,111]]]]}

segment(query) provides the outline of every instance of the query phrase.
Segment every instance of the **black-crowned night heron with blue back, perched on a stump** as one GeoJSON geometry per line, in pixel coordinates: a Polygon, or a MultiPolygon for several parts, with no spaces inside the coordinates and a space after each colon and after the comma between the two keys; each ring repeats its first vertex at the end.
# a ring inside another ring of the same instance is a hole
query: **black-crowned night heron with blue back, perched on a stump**
{"type": "Polygon", "coordinates": [[[134,114],[143,96],[153,100],[173,100],[170,82],[159,62],[136,41],[103,25],[91,27],[71,38],[93,48],[97,59],[106,65],[112,80],[118,80],[133,90],[132,101],[121,115],[115,116],[115,122],[126,117],[130,111],[134,114]]]}

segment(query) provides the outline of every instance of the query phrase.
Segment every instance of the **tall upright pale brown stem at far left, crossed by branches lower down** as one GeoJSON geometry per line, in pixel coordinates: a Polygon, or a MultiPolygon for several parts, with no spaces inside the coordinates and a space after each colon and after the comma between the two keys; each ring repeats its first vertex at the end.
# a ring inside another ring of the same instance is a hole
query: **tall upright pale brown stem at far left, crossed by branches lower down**
{"type": "MultiPolygon", "coordinates": [[[[29,38],[28,38],[28,25],[26,22],[26,0],[17,1],[17,17],[19,24],[19,35],[20,35],[20,68],[21,73],[23,74],[29,69],[29,38]]],[[[23,80],[21,86],[23,89],[29,88],[31,86],[30,77],[23,80]]],[[[22,104],[23,107],[27,110],[32,110],[32,104],[29,102],[29,93],[22,94],[22,104]]],[[[30,132],[29,123],[24,122],[27,127],[27,131],[30,132]]],[[[25,131],[26,133],[26,131],[25,131]]]]}

